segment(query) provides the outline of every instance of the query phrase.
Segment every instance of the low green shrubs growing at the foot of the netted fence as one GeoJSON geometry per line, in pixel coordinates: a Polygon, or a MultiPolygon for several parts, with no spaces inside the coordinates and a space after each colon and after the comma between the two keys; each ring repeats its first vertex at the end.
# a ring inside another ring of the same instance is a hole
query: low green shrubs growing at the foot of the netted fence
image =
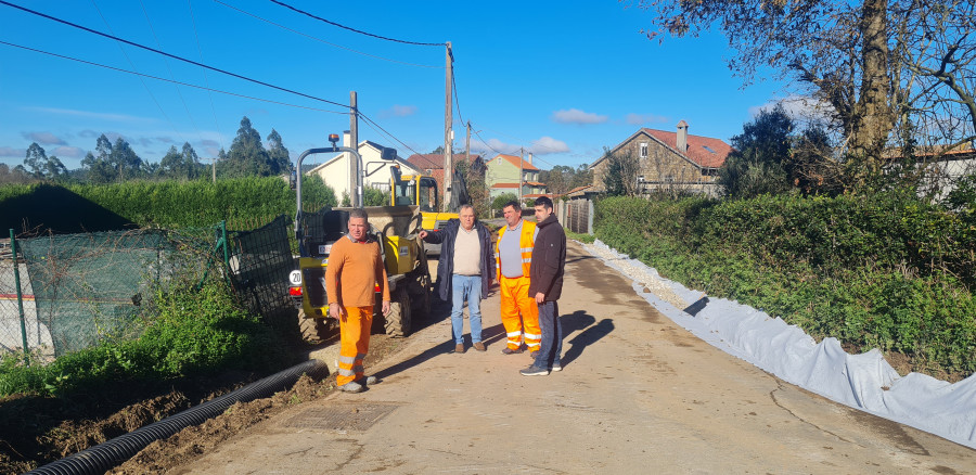
{"type": "Polygon", "coordinates": [[[137,339],[104,342],[64,355],[48,365],[23,365],[23,356],[0,362],[0,396],[66,395],[128,381],[168,380],[229,369],[267,371],[286,359],[283,343],[249,314],[222,282],[200,291],[158,291],[137,339]]]}

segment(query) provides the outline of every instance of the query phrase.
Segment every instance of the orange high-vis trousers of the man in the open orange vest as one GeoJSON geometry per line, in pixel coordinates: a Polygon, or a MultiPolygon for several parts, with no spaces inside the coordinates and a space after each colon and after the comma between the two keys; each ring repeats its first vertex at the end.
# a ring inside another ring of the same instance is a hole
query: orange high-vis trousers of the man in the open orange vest
{"type": "Polygon", "coordinates": [[[509,336],[509,349],[522,347],[522,335],[529,351],[539,349],[542,343],[542,330],[539,329],[539,307],[536,299],[528,296],[529,278],[509,279],[502,275],[498,286],[501,288],[502,325],[509,336]],[[519,318],[521,313],[521,318],[519,318]]]}

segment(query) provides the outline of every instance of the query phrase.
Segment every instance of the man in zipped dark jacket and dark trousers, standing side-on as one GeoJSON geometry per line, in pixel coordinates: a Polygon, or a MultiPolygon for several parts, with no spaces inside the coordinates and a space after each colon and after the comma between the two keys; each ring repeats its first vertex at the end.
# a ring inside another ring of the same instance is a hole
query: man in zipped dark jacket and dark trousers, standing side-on
{"type": "Polygon", "coordinates": [[[563,292],[563,270],[566,266],[566,233],[552,213],[552,200],[536,198],[536,245],[529,268],[529,296],[539,306],[539,326],[542,345],[536,360],[519,371],[524,376],[547,376],[550,371],[562,371],[560,354],[563,352],[563,325],[560,324],[560,307],[556,300],[563,292]]]}

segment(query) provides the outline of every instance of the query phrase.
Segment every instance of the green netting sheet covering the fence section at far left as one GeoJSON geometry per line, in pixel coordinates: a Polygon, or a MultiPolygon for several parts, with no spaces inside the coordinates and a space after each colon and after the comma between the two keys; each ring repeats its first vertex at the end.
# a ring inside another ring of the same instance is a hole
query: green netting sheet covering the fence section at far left
{"type": "Polygon", "coordinates": [[[191,256],[200,255],[200,246],[163,230],[18,239],[34,290],[31,323],[50,335],[55,357],[138,335],[138,307],[154,285],[198,268],[191,256]]]}

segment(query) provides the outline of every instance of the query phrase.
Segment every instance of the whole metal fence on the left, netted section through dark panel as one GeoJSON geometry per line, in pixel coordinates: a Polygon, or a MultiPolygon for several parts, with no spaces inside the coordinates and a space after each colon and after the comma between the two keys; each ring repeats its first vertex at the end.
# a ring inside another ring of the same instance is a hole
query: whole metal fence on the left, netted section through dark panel
{"type": "MultiPolygon", "coordinates": [[[[316,215],[313,215],[316,216],[316,215]]],[[[27,348],[50,360],[106,339],[138,336],[139,307],[177,279],[227,278],[272,326],[294,324],[287,275],[291,222],[252,230],[224,223],[0,241],[0,352],[27,348]]]]}

